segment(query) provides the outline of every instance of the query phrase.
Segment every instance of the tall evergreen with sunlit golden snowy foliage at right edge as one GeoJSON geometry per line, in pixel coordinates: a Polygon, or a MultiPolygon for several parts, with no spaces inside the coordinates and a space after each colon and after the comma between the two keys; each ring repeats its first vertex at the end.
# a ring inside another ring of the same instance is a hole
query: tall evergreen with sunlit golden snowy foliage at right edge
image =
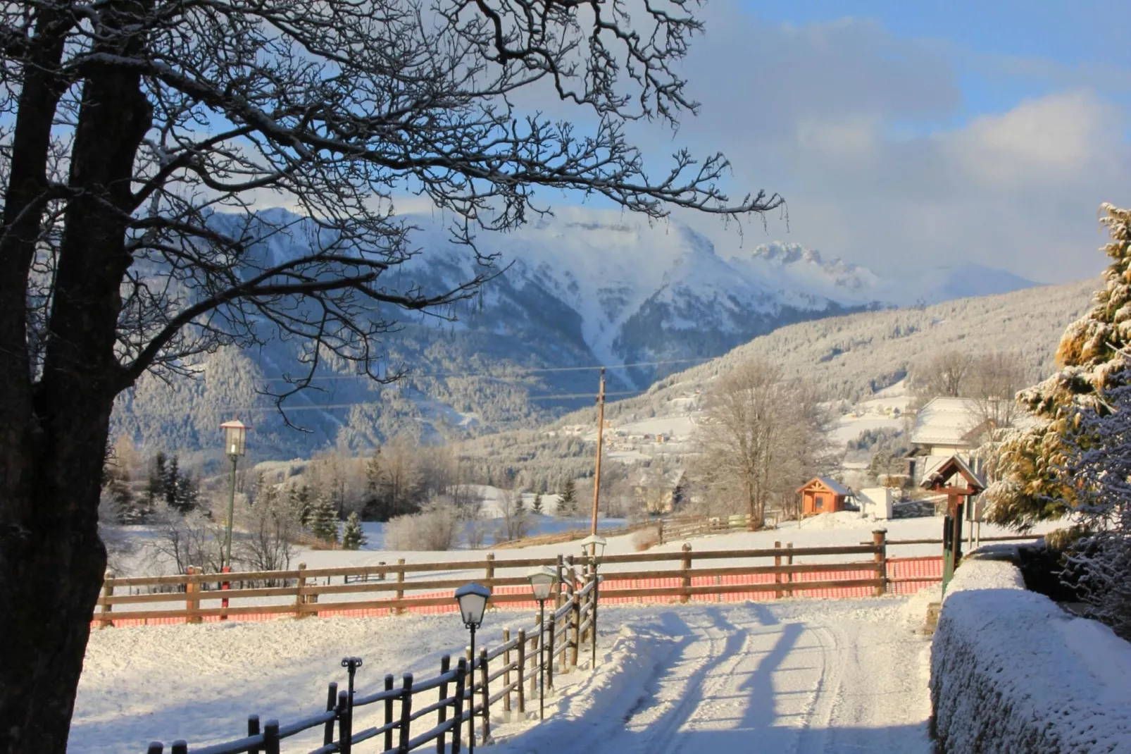
{"type": "Polygon", "coordinates": [[[1072,509],[1073,486],[1064,469],[1071,460],[1071,437],[1081,409],[1105,411],[1098,394],[1115,385],[1114,375],[1131,353],[1131,211],[1103,205],[1111,241],[1104,251],[1112,264],[1095,303],[1064,331],[1048,379],[1018,393],[1036,421],[1001,432],[982,448],[993,482],[985,491],[988,519],[1026,529],[1059,519],[1072,509]]]}

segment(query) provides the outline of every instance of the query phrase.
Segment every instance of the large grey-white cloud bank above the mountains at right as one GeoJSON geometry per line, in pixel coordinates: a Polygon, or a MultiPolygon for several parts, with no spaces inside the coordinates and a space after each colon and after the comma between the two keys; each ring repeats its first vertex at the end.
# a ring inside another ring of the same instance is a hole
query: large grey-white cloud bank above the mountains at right
{"type": "Polygon", "coordinates": [[[775,27],[726,3],[707,20],[688,61],[702,115],[676,142],[725,152],[735,189],[786,197],[788,229],[769,217],[746,245],[800,241],[880,273],[977,263],[1053,282],[1102,268],[1096,211],[1131,204],[1131,121],[1096,91],[955,125],[962,95],[943,44],[855,20],[775,27]]]}

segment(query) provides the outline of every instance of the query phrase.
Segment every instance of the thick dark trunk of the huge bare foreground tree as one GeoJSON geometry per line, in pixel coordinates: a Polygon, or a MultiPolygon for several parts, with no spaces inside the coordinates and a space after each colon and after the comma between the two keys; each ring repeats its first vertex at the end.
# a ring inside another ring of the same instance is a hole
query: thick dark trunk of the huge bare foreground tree
{"type": "MultiPolygon", "coordinates": [[[[129,19],[115,18],[113,6],[103,19],[106,44],[131,52],[137,38],[113,38],[129,19]]],[[[31,368],[0,376],[6,399],[31,395],[7,410],[11,423],[0,432],[0,605],[8,611],[0,620],[0,754],[67,751],[106,565],[97,516],[110,413],[126,387],[114,346],[130,257],[126,220],[105,205],[128,216],[133,158],[150,117],[136,72],[86,75],[69,179],[81,194],[64,213],[42,371],[37,383],[31,368]]],[[[0,312],[6,333],[8,316],[0,312]]],[[[12,345],[26,352],[26,343],[12,345]]]]}

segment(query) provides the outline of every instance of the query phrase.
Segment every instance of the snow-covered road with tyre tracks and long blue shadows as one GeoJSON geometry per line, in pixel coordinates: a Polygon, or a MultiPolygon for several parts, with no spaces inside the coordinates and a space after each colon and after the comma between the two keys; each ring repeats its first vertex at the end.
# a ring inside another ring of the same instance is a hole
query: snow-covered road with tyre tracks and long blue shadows
{"type": "Polygon", "coordinates": [[[890,600],[673,609],[627,623],[553,720],[495,751],[925,754],[925,646],[890,600]]]}

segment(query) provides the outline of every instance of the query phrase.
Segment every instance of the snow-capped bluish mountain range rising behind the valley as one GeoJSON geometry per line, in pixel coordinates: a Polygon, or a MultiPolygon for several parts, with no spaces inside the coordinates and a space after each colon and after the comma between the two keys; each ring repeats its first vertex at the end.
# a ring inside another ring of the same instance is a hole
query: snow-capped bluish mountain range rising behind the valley
{"type": "MultiPolygon", "coordinates": [[[[475,274],[475,255],[451,243],[448,219],[406,220],[418,229],[411,240],[421,254],[391,273],[388,288],[418,284],[438,292],[475,274]]],[[[275,260],[300,254],[308,230],[273,237],[256,252],[275,260]]],[[[452,309],[456,323],[383,312],[406,323],[385,346],[389,366],[405,368],[408,379],[373,386],[349,379],[349,365],[327,365],[320,383],[327,392],[294,401],[305,410],[295,418],[312,432],[277,426],[256,393],[264,380],[293,368],[293,342],[214,355],[201,365],[209,375],[202,384],[143,383],[120,402],[116,428],[149,446],[204,449],[215,420],[244,410],[262,418],[260,447],[276,456],[308,454],[338,439],[362,446],[400,431],[435,438],[492,431],[590,402],[551,396],[592,393],[593,372],[547,370],[662,362],[611,372],[611,392],[641,389],[688,360],[717,357],[783,325],[930,303],[961,295],[962,285],[981,293],[1029,284],[994,271],[884,280],[797,243],[743,248],[734,234],[733,245],[720,249],[676,221],[580,207],[558,209],[512,233],[483,234],[477,247],[497,255],[506,273],[474,302],[452,309]]]]}

